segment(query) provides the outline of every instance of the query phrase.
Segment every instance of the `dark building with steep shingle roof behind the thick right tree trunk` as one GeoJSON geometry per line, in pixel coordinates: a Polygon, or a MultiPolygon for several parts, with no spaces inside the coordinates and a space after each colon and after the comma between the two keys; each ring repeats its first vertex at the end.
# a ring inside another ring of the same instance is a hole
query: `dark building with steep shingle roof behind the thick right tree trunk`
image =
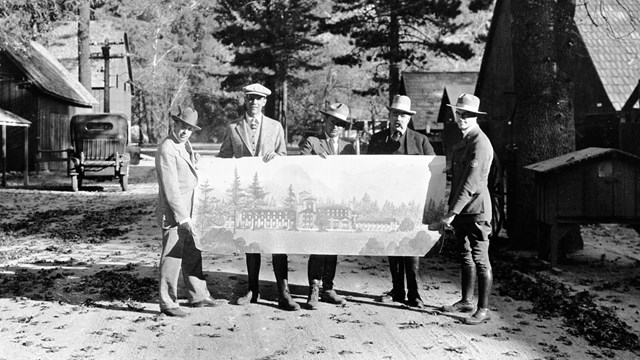
{"type": "MultiPolygon", "coordinates": [[[[501,159],[505,158],[506,146],[513,142],[510,122],[517,121],[512,118],[517,101],[510,4],[508,0],[496,1],[475,91],[481,99],[480,109],[488,113],[479,120],[501,159]]],[[[634,110],[630,99],[640,79],[640,31],[632,21],[639,17],[637,0],[602,0],[576,6],[570,24],[576,42],[566,45],[572,47],[567,52],[571,55],[558,62],[569,71],[574,83],[577,149],[617,148],[621,130],[624,133],[623,128],[637,126],[627,124],[638,121],[638,108],[634,110]]]]}

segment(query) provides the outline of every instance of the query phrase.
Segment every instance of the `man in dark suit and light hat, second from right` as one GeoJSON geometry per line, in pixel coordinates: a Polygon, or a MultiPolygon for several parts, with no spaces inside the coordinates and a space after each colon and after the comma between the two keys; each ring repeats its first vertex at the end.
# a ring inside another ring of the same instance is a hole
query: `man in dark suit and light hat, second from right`
{"type": "MultiPolygon", "coordinates": [[[[389,128],[371,136],[367,154],[394,155],[435,155],[429,139],[419,132],[409,129],[411,116],[411,99],[396,95],[389,110],[389,128]]],[[[404,277],[407,277],[407,305],[422,308],[424,303],[418,292],[416,275],[420,266],[417,256],[389,256],[391,280],[393,288],[380,297],[381,302],[405,301],[404,277]]]]}

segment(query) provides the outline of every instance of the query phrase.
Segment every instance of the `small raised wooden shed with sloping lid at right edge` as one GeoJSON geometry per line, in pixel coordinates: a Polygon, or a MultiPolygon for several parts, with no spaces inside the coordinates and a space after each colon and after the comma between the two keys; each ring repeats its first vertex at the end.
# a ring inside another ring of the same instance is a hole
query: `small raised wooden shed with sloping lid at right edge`
{"type": "Polygon", "coordinates": [[[563,225],[640,224],[640,157],[636,155],[592,147],[525,168],[535,172],[539,250],[549,254],[554,265],[563,225]]]}

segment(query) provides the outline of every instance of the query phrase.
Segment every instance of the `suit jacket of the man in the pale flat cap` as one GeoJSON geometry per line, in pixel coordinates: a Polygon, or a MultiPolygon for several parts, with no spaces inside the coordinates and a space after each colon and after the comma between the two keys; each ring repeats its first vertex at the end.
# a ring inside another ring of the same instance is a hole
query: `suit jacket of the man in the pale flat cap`
{"type": "Polygon", "coordinates": [[[287,154],[284,130],[278,121],[262,116],[256,151],[252,149],[249,131],[244,116],[227,125],[218,156],[222,158],[262,156],[271,150],[281,156],[287,154]]]}

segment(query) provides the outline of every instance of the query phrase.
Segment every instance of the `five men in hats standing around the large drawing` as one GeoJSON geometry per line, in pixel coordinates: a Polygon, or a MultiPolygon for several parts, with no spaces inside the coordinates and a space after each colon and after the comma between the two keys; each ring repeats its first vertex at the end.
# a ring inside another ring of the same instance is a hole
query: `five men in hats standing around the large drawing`
{"type": "MultiPolygon", "coordinates": [[[[261,157],[269,162],[276,156],[286,156],[286,140],[281,124],[262,113],[271,91],[260,84],[243,88],[245,113],[229,124],[220,148],[222,158],[261,157]]],[[[452,185],[449,211],[443,214],[441,225],[453,227],[462,258],[462,299],[443,306],[446,312],[475,312],[465,319],[479,324],[490,319],[488,298],[492,285],[489,262],[489,234],[491,232],[491,200],[488,175],[493,149],[489,139],[477,123],[480,101],[462,94],[456,105],[455,120],[463,139],[454,146],[451,171],[452,185]],[[476,278],[478,303],[473,303],[476,278]]],[[[435,155],[428,138],[409,128],[415,111],[411,99],[397,95],[389,110],[389,127],[371,137],[368,154],[435,155]]],[[[351,143],[340,138],[348,126],[349,108],[345,104],[331,104],[320,111],[324,115],[322,133],[300,143],[303,155],[322,157],[355,154],[351,143]]],[[[220,301],[209,294],[202,274],[202,255],[198,239],[191,228],[194,190],[197,186],[197,155],[189,137],[197,126],[197,113],[191,109],[173,115],[174,127],[162,142],[156,155],[158,175],[158,218],[162,226],[162,254],[160,258],[160,310],[168,316],[183,317],[186,312],[177,302],[177,285],[182,269],[188,300],[192,307],[216,306],[220,301]]],[[[381,302],[402,302],[422,308],[417,284],[419,257],[389,256],[392,289],[380,297],[381,302]],[[406,277],[406,287],[405,287],[406,277]],[[406,288],[406,291],[405,291],[406,288]]],[[[260,299],[260,254],[246,254],[248,273],[247,292],[237,299],[238,305],[256,303],[260,299]]],[[[300,305],[293,300],[288,284],[286,254],[272,254],[273,270],[278,288],[278,307],[296,311],[300,305]]],[[[309,294],[306,307],[318,308],[319,301],[344,305],[346,300],[334,290],[337,255],[311,255],[308,262],[309,294]]]]}

